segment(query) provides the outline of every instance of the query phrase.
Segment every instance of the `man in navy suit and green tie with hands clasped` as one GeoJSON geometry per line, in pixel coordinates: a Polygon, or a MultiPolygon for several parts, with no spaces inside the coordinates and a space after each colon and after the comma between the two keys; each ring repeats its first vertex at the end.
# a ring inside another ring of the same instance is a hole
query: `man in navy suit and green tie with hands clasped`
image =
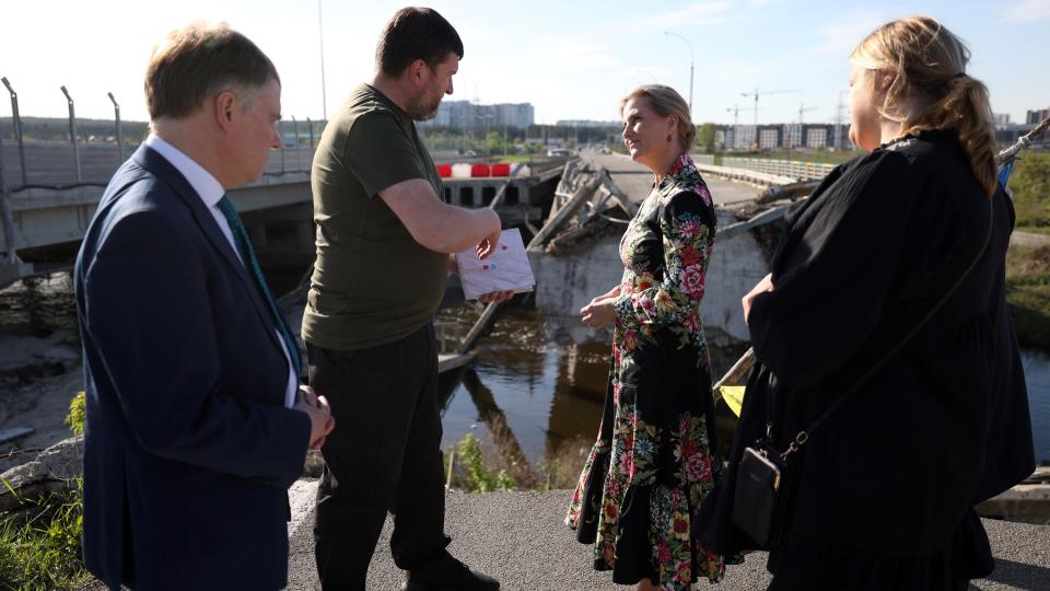
{"type": "Polygon", "coordinates": [[[224,24],[173,32],[153,134],[116,172],[74,273],[84,559],[109,588],[280,589],[288,487],[332,428],[224,193],[279,146],[280,79],[224,24]]]}

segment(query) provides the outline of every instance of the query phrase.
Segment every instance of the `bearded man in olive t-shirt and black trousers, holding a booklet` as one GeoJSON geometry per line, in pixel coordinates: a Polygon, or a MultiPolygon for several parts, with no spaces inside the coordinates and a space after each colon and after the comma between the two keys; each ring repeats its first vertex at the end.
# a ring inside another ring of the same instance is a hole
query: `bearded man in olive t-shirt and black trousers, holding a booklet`
{"type": "MultiPolygon", "coordinates": [[[[310,382],[339,425],[322,452],[314,526],[324,589],[363,590],[387,512],[410,591],[492,591],[445,547],[433,315],[453,253],[497,245],[491,210],[446,205],[413,120],[433,117],[463,57],[430,9],[394,15],[376,74],[325,129],[312,184],[317,260],[303,316],[310,382]]],[[[488,294],[500,301],[510,292],[488,294]]]]}

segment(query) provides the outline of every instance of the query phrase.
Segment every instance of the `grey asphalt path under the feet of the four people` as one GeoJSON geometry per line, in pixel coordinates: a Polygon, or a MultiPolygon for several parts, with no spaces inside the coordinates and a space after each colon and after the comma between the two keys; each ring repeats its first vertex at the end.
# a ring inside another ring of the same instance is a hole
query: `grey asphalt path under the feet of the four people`
{"type": "MultiPolygon", "coordinates": [[[[302,483],[308,497],[312,485],[302,483]]],[[[611,583],[608,572],[592,568],[592,547],[575,541],[563,523],[568,490],[550,493],[492,493],[467,495],[450,491],[445,531],[451,552],[471,567],[498,578],[506,591],[597,591],[632,589],[611,583]]],[[[308,503],[303,521],[293,524],[289,589],[313,589],[313,535],[308,503]]],[[[996,556],[995,572],[975,581],[971,589],[1050,590],[1050,526],[984,520],[996,556]]],[[[398,589],[402,573],[390,559],[390,521],[376,547],[369,572],[369,589],[398,589]]],[[[744,565],[728,567],[716,589],[724,591],[766,589],[765,553],[749,555],[744,565]]],[[[695,586],[707,588],[707,582],[695,586]]]]}

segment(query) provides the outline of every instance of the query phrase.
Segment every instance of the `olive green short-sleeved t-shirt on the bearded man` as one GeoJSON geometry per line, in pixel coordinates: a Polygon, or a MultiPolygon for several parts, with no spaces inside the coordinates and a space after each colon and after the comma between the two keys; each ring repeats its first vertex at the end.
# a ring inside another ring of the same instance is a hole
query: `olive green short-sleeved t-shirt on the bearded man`
{"type": "Polygon", "coordinates": [[[432,321],[445,291],[447,255],[416,242],[378,195],[412,178],[442,195],[412,119],[361,84],[328,121],[314,154],[317,260],[303,315],[306,341],[363,349],[432,321]]]}

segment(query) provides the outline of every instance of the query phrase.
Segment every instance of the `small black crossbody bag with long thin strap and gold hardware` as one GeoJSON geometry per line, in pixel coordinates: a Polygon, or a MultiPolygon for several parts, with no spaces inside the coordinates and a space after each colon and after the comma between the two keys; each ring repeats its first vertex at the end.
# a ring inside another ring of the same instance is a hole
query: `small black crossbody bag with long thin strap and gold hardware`
{"type": "Polygon", "coordinates": [[[984,256],[988,244],[992,237],[992,213],[994,211],[995,196],[989,198],[989,222],[988,233],[984,236],[984,245],[978,253],[970,266],[967,267],[959,279],[948,289],[947,293],[926,313],[912,328],[908,335],[886,354],[883,359],[867,370],[842,396],[836,401],[827,410],[820,415],[807,429],[798,431],[794,440],[784,451],[779,451],[772,443],[773,432],[773,409],[772,396],[769,398],[769,414],[766,422],[766,437],[755,441],[755,443],[744,449],[736,472],[736,490],[733,496],[732,520],[745,534],[747,534],[757,545],[754,549],[774,549],[783,546],[791,528],[791,512],[794,508],[792,486],[795,474],[795,466],[792,456],[797,453],[809,436],[820,427],[820,425],[856,392],[872,375],[875,374],[886,362],[903,348],[914,337],[919,331],[933,317],[942,305],[952,297],[953,293],[962,285],[962,281],[970,275],[977,263],[984,256]]]}

